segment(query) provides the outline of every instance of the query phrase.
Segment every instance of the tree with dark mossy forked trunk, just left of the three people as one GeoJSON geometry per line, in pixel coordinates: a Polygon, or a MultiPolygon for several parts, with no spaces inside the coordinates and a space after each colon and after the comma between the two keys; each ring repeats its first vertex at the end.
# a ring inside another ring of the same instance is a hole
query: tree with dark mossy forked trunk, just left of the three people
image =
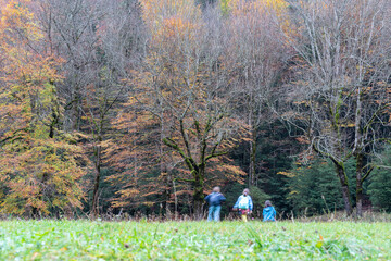
{"type": "MultiPolygon", "coordinates": [[[[146,64],[148,92],[156,101],[151,112],[157,117],[168,116],[171,129],[162,141],[187,166],[189,177],[179,181],[191,184],[194,214],[200,217],[205,182],[211,177],[207,164],[226,153],[226,141],[236,128],[230,117],[232,85],[222,59],[225,47],[217,44],[225,41],[225,34],[218,27],[219,14],[214,20],[202,16],[193,1],[144,1],[143,8],[147,17],[152,15],[146,64]],[[159,4],[162,9],[156,8],[159,4]]],[[[226,171],[238,177],[242,174],[235,166],[226,171]]]]}

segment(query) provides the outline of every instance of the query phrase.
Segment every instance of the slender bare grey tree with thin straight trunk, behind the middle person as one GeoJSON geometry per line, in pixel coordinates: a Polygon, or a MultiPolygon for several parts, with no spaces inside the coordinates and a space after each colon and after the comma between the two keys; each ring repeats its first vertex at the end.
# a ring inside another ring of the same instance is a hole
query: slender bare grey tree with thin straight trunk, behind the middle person
{"type": "Polygon", "coordinates": [[[272,120],[267,107],[272,103],[275,86],[288,59],[277,20],[286,9],[283,1],[230,1],[229,55],[236,72],[237,107],[245,115],[250,129],[249,186],[254,186],[256,174],[257,128],[272,120]]]}

